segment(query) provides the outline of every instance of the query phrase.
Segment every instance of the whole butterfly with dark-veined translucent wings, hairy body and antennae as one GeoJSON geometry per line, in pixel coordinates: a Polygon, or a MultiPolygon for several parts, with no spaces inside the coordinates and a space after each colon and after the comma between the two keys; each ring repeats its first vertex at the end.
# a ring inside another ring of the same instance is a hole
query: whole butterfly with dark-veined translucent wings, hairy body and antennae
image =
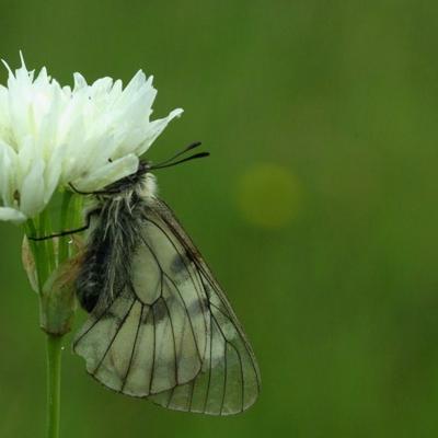
{"type": "Polygon", "coordinates": [[[173,161],[183,152],[160,165],[140,162],[136,173],[92,193],[76,279],[89,319],[73,351],[111,390],[177,411],[237,414],[260,392],[254,353],[151,173],[207,154],[173,161]]]}

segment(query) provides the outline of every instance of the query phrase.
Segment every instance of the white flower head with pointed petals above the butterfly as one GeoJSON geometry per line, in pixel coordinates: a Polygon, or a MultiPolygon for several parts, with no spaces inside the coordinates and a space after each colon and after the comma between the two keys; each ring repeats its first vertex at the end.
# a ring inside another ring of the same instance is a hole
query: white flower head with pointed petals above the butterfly
{"type": "Polygon", "coordinates": [[[138,166],[169,122],[149,120],[157,90],[140,70],[122,81],[88,84],[74,73],[74,88],[61,88],[43,68],[34,78],[22,66],[9,69],[0,85],[0,220],[23,221],[39,214],[58,186],[72,183],[93,192],[138,166]]]}

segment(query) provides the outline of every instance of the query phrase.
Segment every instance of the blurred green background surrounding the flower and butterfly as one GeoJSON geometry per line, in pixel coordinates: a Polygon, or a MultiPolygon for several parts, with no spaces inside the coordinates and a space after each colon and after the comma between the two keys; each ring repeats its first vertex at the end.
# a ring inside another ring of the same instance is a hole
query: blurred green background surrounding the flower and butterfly
{"type": "MultiPolygon", "coordinates": [[[[243,415],[106,391],[64,354],[61,437],[436,437],[438,7],[379,1],[1,1],[0,54],[125,82],[155,76],[150,151],[256,351],[243,415]]],[[[0,72],[2,83],[5,70],[0,72]]],[[[0,223],[0,437],[43,437],[45,342],[0,223]]]]}

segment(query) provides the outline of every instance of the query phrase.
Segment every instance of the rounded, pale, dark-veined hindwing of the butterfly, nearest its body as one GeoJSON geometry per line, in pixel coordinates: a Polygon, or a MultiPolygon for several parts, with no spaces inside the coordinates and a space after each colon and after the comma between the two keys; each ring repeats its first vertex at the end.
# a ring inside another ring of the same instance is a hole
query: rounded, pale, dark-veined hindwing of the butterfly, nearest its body
{"type": "Polygon", "coordinates": [[[180,257],[183,245],[146,219],[140,230],[131,277],[110,306],[97,303],[73,343],[90,374],[132,396],[192,381],[203,366],[210,323],[201,277],[180,257]]]}

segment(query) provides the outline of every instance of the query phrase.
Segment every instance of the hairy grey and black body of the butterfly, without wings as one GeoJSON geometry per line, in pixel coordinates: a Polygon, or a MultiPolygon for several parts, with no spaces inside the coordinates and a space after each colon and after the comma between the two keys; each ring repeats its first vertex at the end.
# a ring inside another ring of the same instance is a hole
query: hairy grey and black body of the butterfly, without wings
{"type": "Polygon", "coordinates": [[[155,192],[153,175],[146,174],[120,193],[97,197],[90,212],[88,250],[76,285],[78,299],[88,312],[96,306],[107,308],[129,280],[143,211],[155,192]]]}

